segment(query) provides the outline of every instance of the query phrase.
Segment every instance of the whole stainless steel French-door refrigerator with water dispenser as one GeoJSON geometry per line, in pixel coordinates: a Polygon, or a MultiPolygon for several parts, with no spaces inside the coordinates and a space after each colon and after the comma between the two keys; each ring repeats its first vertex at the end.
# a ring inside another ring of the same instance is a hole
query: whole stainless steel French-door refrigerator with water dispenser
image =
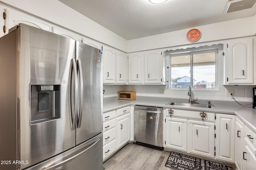
{"type": "Polygon", "coordinates": [[[21,23],[0,81],[1,170],[102,170],[100,49],[21,23]]]}

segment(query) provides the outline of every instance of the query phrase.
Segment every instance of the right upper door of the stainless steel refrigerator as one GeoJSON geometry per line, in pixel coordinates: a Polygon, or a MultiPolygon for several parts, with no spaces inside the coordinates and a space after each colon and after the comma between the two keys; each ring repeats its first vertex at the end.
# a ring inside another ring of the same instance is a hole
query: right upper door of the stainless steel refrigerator
{"type": "Polygon", "coordinates": [[[80,109],[76,145],[102,132],[102,54],[99,49],[76,42],[80,109]],[[80,65],[80,66],[79,66],[80,65]],[[82,74],[81,74],[82,73],[82,74]],[[82,87],[81,87],[82,86],[82,87]]]}

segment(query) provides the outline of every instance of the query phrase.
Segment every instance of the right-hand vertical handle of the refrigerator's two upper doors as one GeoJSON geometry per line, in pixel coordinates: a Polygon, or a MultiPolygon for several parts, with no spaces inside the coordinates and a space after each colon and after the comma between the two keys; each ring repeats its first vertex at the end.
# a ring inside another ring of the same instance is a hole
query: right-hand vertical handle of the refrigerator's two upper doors
{"type": "Polygon", "coordinates": [[[82,64],[81,64],[81,60],[77,60],[76,61],[76,66],[77,66],[77,72],[79,75],[79,80],[80,80],[80,109],[79,112],[77,114],[77,128],[81,127],[81,122],[82,122],[82,115],[83,115],[83,103],[84,103],[84,84],[83,84],[83,74],[82,74],[82,64]]]}

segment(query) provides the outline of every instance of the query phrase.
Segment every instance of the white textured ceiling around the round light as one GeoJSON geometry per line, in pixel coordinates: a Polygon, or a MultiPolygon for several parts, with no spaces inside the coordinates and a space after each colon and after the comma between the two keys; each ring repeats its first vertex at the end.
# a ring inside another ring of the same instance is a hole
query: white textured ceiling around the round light
{"type": "Polygon", "coordinates": [[[59,1],[127,40],[256,14],[255,4],[224,14],[228,0],[168,0],[163,4],[148,0],[59,1]]]}

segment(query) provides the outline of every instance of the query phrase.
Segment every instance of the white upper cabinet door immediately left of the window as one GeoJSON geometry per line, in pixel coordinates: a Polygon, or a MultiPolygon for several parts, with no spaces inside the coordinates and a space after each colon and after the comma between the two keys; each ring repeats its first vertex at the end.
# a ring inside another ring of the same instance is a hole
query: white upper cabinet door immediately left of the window
{"type": "Polygon", "coordinates": [[[150,51],[144,53],[144,81],[145,83],[161,83],[162,56],[161,51],[150,51]]]}

